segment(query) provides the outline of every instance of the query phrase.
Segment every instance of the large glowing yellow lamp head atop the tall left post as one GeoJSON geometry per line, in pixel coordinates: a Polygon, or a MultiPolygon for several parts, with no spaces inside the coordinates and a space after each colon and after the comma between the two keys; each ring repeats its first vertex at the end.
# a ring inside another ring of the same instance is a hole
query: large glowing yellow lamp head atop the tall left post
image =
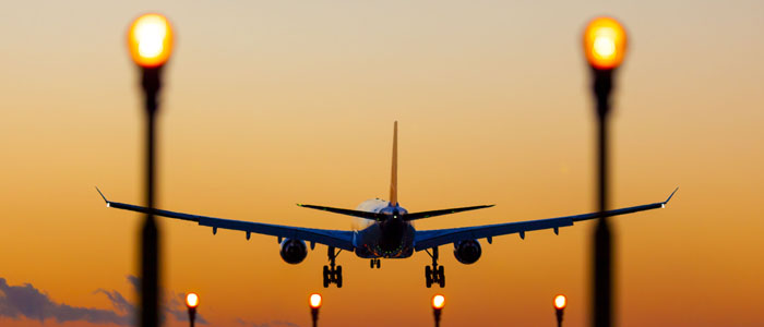
{"type": "Polygon", "coordinates": [[[160,14],[144,14],[130,25],[128,48],[133,61],[143,68],[160,66],[172,52],[172,28],[160,14]]]}

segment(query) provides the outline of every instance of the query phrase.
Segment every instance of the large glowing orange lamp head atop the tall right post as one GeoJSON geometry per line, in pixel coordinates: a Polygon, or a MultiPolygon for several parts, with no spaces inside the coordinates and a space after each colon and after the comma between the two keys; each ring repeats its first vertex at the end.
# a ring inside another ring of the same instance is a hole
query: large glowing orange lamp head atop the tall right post
{"type": "Polygon", "coordinates": [[[611,17],[592,20],[584,31],[584,52],[594,69],[611,70],[621,65],[626,51],[626,32],[611,17]]]}

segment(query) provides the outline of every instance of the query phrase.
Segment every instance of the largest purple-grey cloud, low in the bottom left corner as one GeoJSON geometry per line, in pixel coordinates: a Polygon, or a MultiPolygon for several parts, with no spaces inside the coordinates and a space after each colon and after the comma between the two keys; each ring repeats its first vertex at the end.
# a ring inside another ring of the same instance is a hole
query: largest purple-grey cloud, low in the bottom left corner
{"type": "Polygon", "coordinates": [[[127,326],[132,322],[127,314],[109,310],[56,303],[31,283],[9,286],[4,278],[0,278],[0,316],[26,317],[40,323],[52,318],[59,323],[88,322],[127,326]]]}

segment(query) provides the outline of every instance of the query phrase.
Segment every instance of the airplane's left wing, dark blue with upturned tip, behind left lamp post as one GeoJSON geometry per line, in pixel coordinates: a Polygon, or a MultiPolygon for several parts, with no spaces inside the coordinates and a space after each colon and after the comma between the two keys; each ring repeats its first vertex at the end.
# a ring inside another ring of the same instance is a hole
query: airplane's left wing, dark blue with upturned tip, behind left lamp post
{"type": "MultiPolygon", "coordinates": [[[[96,187],[98,190],[98,187],[96,187]]],[[[160,209],[150,209],[146,207],[141,207],[131,204],[111,202],[106,199],[100,190],[98,194],[106,202],[107,207],[118,208],[130,211],[138,211],[148,214],[152,213],[156,216],[175,218],[181,220],[195,221],[200,226],[207,226],[213,228],[213,233],[217,232],[218,228],[240,230],[247,232],[247,238],[249,239],[250,233],[273,235],[278,238],[289,238],[296,240],[302,240],[308,242],[321,243],[329,246],[334,246],[347,251],[354,251],[355,245],[353,245],[354,232],[343,231],[343,230],[326,230],[326,229],[314,229],[314,228],[301,228],[291,226],[280,226],[271,225],[262,222],[242,221],[242,220],[231,220],[223,218],[214,218],[206,216],[189,215],[176,211],[160,210],[160,209]]]]}

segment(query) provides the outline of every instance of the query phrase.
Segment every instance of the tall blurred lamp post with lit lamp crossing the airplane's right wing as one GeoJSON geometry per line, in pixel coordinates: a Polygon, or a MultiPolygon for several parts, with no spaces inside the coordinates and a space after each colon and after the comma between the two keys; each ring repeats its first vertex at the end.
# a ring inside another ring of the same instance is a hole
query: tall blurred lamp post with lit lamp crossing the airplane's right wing
{"type": "Polygon", "coordinates": [[[612,234],[608,208],[608,119],[613,73],[623,62],[626,33],[611,17],[597,17],[584,31],[584,53],[592,68],[598,128],[598,204],[600,217],[594,231],[594,326],[612,325],[612,234]]]}

